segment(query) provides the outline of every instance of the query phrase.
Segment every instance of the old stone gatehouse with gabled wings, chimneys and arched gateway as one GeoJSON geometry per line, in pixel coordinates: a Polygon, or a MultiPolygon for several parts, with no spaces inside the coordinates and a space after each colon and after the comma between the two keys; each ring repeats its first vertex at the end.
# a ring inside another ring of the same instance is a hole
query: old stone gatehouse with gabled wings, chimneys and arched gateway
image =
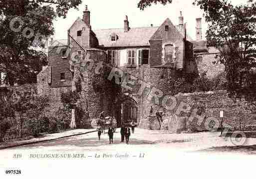
{"type": "Polygon", "coordinates": [[[48,66],[37,76],[38,92],[74,88],[77,62],[82,64],[78,67],[80,72],[89,62],[93,64],[90,70],[81,73],[82,104],[92,123],[95,124],[103,110],[106,116],[115,116],[119,126],[131,120],[139,123],[148,117],[151,106],[153,114],[161,108],[159,94],[163,96],[170,91],[167,79],[183,73],[198,73],[194,44],[182,13],[178,25],[167,18],[160,26],[133,28],[125,16],[123,28],[93,30],[86,6],[83,17],[78,17],[68,29],[67,40],[54,41],[49,47],[48,66]],[[130,85],[122,96],[98,94],[93,89],[92,76],[100,62],[121,72],[122,86],[130,85]]]}

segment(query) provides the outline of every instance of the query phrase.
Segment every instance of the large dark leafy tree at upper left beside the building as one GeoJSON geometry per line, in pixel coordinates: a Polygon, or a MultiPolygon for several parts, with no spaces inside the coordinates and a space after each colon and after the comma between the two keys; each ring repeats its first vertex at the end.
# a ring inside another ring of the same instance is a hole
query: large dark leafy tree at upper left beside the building
{"type": "Polygon", "coordinates": [[[44,47],[53,35],[53,20],[66,17],[81,0],[0,0],[0,72],[5,83],[36,83],[47,56],[32,47],[44,47]],[[13,30],[14,29],[14,30],[13,30]]]}

